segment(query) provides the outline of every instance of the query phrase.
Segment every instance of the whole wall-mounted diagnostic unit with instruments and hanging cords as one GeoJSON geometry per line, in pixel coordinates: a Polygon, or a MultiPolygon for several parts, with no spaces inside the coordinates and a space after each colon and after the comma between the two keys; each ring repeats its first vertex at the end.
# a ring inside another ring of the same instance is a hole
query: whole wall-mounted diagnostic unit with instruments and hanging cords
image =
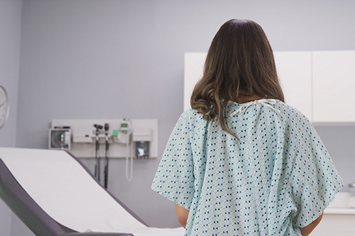
{"type": "Polygon", "coordinates": [[[109,158],[126,158],[126,178],[130,181],[134,157],[158,157],[158,120],[53,119],[49,149],[65,149],[77,158],[95,158],[94,172],[99,181],[100,159],[104,157],[105,187],[109,158]]]}

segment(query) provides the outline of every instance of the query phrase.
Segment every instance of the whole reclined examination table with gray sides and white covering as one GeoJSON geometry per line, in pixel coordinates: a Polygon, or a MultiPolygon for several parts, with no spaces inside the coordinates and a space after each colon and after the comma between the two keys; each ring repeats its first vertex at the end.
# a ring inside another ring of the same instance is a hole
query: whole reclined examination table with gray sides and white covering
{"type": "Polygon", "coordinates": [[[0,148],[0,197],[39,236],[182,236],[152,228],[66,151],[0,148]]]}

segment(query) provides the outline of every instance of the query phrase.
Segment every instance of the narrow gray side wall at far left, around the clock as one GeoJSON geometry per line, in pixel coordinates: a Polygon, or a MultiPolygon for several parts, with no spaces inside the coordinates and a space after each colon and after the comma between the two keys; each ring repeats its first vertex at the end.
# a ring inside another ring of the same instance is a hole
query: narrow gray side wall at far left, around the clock
{"type": "MultiPolygon", "coordinates": [[[[21,0],[0,0],[0,85],[10,101],[8,122],[0,129],[0,146],[15,146],[21,0]]],[[[0,199],[0,236],[10,235],[10,209],[0,199]]]]}

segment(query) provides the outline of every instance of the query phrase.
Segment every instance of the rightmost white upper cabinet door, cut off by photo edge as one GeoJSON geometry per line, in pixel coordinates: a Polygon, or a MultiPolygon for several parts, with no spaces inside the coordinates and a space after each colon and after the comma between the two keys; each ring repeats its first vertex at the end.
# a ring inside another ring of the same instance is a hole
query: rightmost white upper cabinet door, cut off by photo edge
{"type": "Polygon", "coordinates": [[[355,51],[313,51],[315,122],[355,121],[355,51]]]}

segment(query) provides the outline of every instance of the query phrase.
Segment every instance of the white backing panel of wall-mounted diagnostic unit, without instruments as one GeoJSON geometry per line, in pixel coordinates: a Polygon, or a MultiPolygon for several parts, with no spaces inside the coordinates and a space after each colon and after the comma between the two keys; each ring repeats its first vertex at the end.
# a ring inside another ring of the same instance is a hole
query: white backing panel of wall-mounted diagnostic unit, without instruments
{"type": "MultiPolygon", "coordinates": [[[[132,126],[133,142],[129,143],[129,150],[135,156],[138,141],[149,142],[149,158],[158,157],[158,120],[157,119],[129,119],[132,126]],[[133,145],[133,146],[132,146],[133,145]]],[[[72,133],[70,153],[77,158],[95,158],[95,130],[94,124],[104,127],[109,124],[109,158],[125,158],[127,155],[127,141],[120,135],[113,136],[113,130],[120,130],[123,119],[53,119],[51,128],[70,126],[72,133]],[[121,140],[120,140],[121,139],[121,140]]],[[[102,128],[99,135],[101,158],[105,156],[105,133],[102,128]]]]}

